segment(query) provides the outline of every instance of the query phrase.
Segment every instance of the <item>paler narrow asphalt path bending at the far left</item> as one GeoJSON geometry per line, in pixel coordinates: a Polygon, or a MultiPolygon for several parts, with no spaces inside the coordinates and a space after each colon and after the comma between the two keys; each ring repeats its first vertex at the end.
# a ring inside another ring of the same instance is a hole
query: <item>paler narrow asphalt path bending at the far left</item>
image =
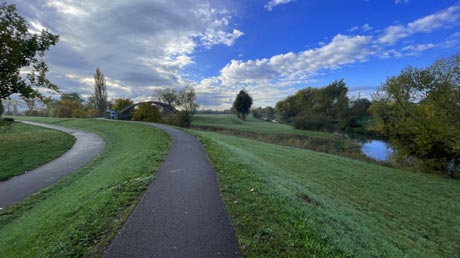
{"type": "Polygon", "coordinates": [[[0,182],[0,210],[38,192],[92,161],[104,149],[104,141],[93,133],[66,127],[21,121],[25,124],[63,131],[76,138],[73,147],[61,157],[0,182]]]}

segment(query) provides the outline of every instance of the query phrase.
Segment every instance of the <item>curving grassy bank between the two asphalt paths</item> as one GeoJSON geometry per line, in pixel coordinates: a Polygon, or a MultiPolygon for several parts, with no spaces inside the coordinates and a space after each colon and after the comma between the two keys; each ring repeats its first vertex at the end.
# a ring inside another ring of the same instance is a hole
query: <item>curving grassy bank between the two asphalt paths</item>
{"type": "Polygon", "coordinates": [[[89,165],[0,214],[0,257],[96,257],[153,180],[168,137],[132,123],[34,120],[95,132],[106,148],[89,165]]]}

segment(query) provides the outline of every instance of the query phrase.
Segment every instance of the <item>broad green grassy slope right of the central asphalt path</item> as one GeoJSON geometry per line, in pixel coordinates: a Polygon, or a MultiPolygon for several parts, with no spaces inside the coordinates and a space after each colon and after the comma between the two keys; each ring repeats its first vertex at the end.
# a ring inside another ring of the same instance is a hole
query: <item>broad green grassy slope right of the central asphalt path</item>
{"type": "Polygon", "coordinates": [[[459,257],[458,181],[195,133],[247,257],[459,257]]]}

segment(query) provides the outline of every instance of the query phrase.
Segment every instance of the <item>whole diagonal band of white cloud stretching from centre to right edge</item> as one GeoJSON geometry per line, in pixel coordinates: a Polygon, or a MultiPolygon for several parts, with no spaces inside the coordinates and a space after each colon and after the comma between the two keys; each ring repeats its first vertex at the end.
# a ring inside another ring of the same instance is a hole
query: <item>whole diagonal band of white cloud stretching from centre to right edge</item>
{"type": "MultiPolygon", "coordinates": [[[[293,53],[288,52],[256,60],[231,60],[220,70],[220,75],[212,80],[199,83],[199,89],[208,92],[214,89],[215,96],[231,96],[231,92],[245,88],[251,94],[259,96],[256,105],[268,105],[273,99],[293,94],[295,85],[315,80],[318,75],[356,62],[365,62],[370,58],[400,58],[417,56],[433,48],[447,48],[460,44],[460,34],[454,34],[444,42],[403,44],[393,49],[397,42],[415,33],[430,33],[446,27],[458,26],[460,6],[414,20],[406,25],[392,25],[380,34],[370,33],[369,24],[356,26],[350,32],[362,35],[337,34],[329,43],[319,48],[293,53]],[[365,33],[368,35],[365,35],[365,33]],[[218,89],[216,91],[216,89],[218,89]],[[261,94],[263,93],[263,94],[261,94]]],[[[216,98],[215,98],[216,99],[216,98]]],[[[217,104],[217,102],[216,102],[217,104]]],[[[230,103],[231,104],[231,103],[230,103]]]]}

